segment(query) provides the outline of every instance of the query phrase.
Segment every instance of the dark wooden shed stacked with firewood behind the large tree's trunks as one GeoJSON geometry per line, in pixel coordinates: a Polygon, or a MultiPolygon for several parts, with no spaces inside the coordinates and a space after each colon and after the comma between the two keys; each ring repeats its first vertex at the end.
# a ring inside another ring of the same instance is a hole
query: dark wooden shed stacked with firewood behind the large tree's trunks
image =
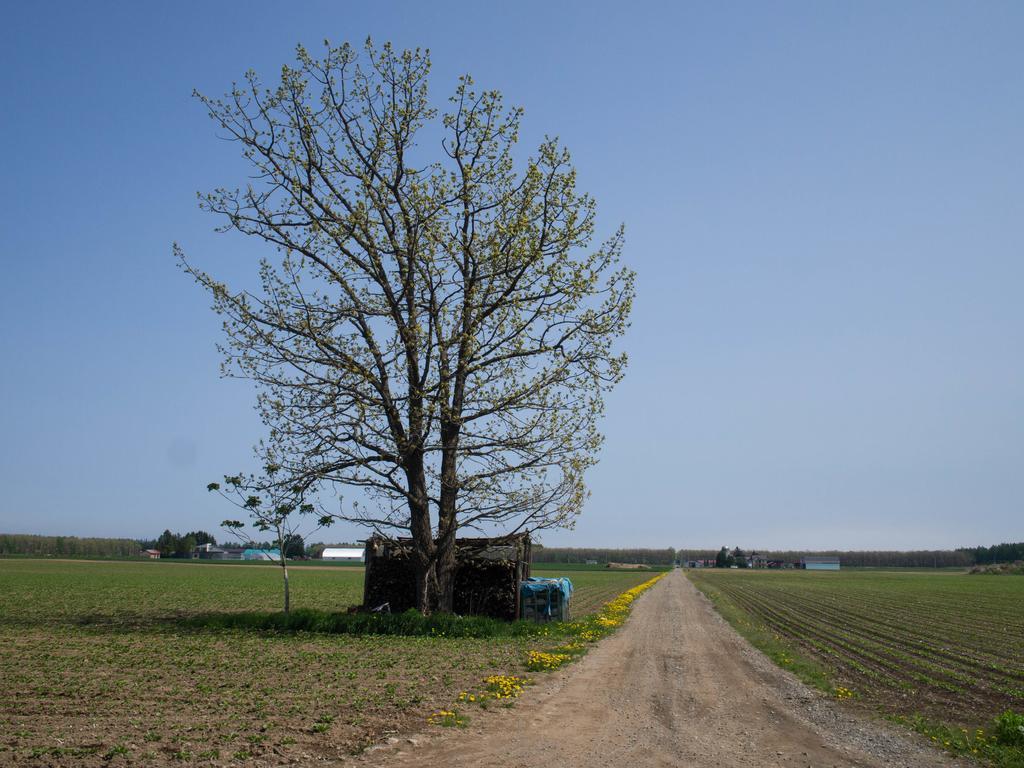
{"type": "MultiPolygon", "coordinates": [[[[494,539],[457,539],[453,610],[513,621],[519,616],[519,584],[530,574],[528,534],[494,539]]],[[[367,540],[362,604],[387,603],[392,612],[416,607],[412,539],[367,540]]]]}

